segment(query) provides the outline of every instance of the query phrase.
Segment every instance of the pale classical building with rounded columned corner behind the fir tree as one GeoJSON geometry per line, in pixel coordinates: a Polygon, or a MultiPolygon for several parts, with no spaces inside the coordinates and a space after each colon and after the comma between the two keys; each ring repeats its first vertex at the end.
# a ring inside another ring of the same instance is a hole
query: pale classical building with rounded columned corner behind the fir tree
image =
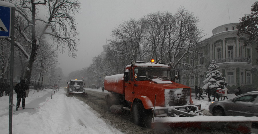
{"type": "MultiPolygon", "coordinates": [[[[220,71],[228,82],[228,89],[241,87],[243,90],[256,90],[258,87],[255,50],[257,44],[244,45],[245,36],[237,35],[239,23],[225,24],[212,30],[213,35],[200,42],[205,57],[199,57],[195,64],[203,65],[199,68],[202,73],[191,76],[190,87],[204,85],[207,67],[210,61],[215,60],[220,71]]],[[[257,42],[255,42],[257,43],[257,42]]]]}

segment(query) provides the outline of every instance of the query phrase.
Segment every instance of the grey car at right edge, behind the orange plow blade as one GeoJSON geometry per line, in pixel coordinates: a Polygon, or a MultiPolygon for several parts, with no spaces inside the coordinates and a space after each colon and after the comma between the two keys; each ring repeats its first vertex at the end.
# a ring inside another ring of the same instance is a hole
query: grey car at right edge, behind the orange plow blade
{"type": "Polygon", "coordinates": [[[230,100],[214,101],[209,106],[212,115],[257,116],[258,91],[248,92],[230,100]]]}

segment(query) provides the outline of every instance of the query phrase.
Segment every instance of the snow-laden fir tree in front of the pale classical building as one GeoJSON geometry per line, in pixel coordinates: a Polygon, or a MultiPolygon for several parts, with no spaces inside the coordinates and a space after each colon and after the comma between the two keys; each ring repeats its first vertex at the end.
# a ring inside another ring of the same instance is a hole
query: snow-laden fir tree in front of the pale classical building
{"type": "Polygon", "coordinates": [[[219,66],[215,64],[216,62],[213,60],[211,64],[208,66],[207,75],[204,82],[204,86],[202,90],[207,92],[208,88],[215,90],[216,88],[224,89],[227,86],[227,82],[225,81],[225,77],[222,76],[220,72],[219,66]]]}

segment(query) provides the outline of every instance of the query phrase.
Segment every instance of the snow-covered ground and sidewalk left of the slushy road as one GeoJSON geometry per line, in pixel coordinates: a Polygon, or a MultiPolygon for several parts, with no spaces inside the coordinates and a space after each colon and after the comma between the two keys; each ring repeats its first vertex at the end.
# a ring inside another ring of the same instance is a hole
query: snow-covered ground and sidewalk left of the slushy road
{"type": "MultiPolygon", "coordinates": [[[[1,97],[0,102],[0,130],[2,134],[8,134],[9,96],[1,97]]],[[[16,94],[13,94],[13,104],[16,104],[16,94]]],[[[15,134],[122,133],[106,124],[83,101],[67,97],[64,89],[59,89],[56,94],[54,90],[44,89],[34,95],[32,90],[25,107],[27,109],[18,111],[13,107],[12,131],[15,134]],[[29,109],[35,107],[39,108],[29,109]]]]}

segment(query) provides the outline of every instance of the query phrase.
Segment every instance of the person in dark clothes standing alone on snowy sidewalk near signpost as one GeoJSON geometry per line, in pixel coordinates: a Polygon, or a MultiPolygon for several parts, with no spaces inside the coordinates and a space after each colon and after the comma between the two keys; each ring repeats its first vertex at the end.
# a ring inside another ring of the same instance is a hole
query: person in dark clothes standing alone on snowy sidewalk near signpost
{"type": "Polygon", "coordinates": [[[16,84],[14,91],[17,93],[17,103],[16,103],[16,111],[18,107],[20,107],[21,99],[22,99],[22,109],[25,107],[25,98],[26,98],[26,90],[29,87],[25,84],[25,80],[21,80],[20,83],[16,84]]]}

